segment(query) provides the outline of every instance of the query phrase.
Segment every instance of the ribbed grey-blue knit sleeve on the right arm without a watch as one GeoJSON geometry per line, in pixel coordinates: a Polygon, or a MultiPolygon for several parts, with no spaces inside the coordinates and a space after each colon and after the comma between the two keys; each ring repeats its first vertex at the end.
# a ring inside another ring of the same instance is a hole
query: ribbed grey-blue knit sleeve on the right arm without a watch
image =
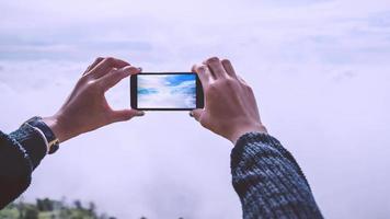
{"type": "Polygon", "coordinates": [[[322,218],[298,163],[269,135],[240,137],[231,151],[231,174],[244,219],[322,218]]]}

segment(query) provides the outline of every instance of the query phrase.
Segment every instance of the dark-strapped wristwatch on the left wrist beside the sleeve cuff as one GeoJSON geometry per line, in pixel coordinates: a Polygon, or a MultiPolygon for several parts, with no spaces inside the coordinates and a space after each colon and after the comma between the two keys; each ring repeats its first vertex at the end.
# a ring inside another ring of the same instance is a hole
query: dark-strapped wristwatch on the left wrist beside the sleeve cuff
{"type": "Polygon", "coordinates": [[[48,154],[56,152],[59,148],[59,140],[54,135],[53,130],[42,120],[42,117],[35,116],[26,120],[24,124],[32,126],[35,129],[38,129],[43,137],[46,138],[47,151],[48,154]]]}

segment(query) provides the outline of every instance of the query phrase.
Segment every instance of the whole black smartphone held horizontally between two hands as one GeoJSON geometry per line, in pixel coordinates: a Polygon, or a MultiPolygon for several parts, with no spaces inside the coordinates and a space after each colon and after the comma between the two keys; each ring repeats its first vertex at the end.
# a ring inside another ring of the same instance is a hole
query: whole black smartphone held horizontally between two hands
{"type": "Polygon", "coordinates": [[[204,94],[194,72],[142,72],[130,77],[130,103],[141,111],[191,111],[204,107],[204,94]]]}

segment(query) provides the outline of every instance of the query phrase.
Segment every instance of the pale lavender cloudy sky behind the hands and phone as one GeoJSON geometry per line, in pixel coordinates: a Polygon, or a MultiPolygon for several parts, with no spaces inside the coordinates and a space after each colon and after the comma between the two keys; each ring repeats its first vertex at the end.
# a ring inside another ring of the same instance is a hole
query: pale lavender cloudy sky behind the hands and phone
{"type": "MultiPolygon", "coordinates": [[[[0,1],[0,129],[53,115],[97,56],[144,71],[229,58],[326,218],[390,217],[388,0],[0,1]]],[[[129,107],[129,83],[107,93],[129,107]]],[[[64,142],[23,195],[118,218],[240,218],[232,145],[187,113],[147,112],[64,142]]]]}

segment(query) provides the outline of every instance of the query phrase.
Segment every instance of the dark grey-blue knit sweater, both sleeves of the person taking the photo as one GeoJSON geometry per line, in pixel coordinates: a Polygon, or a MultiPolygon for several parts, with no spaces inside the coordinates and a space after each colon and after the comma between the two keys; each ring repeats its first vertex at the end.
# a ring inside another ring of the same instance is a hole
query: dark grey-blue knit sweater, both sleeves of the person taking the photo
{"type": "MultiPolygon", "coordinates": [[[[0,209],[28,187],[46,150],[41,134],[30,126],[10,135],[0,131],[0,209]]],[[[322,218],[297,162],[268,135],[250,132],[238,140],[231,174],[245,219],[322,218]]]]}

